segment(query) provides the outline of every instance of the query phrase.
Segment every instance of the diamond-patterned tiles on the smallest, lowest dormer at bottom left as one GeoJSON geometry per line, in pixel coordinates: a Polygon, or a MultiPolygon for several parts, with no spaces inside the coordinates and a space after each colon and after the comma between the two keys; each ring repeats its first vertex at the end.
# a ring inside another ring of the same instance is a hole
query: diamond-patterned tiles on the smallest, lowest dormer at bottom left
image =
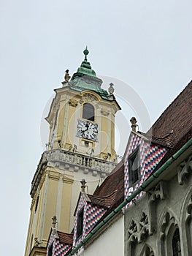
{"type": "Polygon", "coordinates": [[[53,244],[53,255],[54,256],[63,256],[66,255],[67,252],[69,252],[69,249],[72,248],[69,244],[61,244],[58,240],[58,238],[55,238],[54,234],[51,233],[50,240],[47,246],[47,256],[49,252],[49,248],[53,244]]]}

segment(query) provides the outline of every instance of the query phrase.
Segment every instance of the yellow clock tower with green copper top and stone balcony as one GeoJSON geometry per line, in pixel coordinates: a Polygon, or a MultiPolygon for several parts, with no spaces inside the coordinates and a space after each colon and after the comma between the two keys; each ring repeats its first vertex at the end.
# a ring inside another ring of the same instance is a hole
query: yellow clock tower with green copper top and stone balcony
{"type": "Polygon", "coordinates": [[[46,118],[50,135],[31,183],[31,216],[25,256],[46,255],[51,218],[58,230],[72,231],[73,214],[85,178],[88,193],[93,191],[117,164],[115,113],[120,110],[110,84],[102,80],[88,62],[88,50],[77,72],[66,70],[61,88],[46,118]]]}

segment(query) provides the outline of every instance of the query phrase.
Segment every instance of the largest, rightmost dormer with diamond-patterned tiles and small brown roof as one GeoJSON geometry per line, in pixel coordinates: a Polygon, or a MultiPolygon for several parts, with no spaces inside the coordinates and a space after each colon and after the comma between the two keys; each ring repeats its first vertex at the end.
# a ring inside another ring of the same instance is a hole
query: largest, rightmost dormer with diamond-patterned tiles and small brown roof
{"type": "MultiPolygon", "coordinates": [[[[135,132],[135,129],[131,131],[124,156],[125,198],[141,186],[161,162],[171,147],[169,135],[164,138],[155,138],[142,132],[135,132]]],[[[143,193],[137,195],[136,200],[143,193]]]]}

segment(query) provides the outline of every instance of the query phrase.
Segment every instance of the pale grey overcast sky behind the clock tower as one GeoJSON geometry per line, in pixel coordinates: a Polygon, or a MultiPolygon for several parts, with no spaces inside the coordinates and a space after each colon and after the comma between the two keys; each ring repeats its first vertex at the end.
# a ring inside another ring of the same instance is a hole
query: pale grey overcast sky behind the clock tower
{"type": "Polygon", "coordinates": [[[88,45],[103,87],[115,83],[122,155],[133,113],[145,132],[143,117],[153,123],[191,81],[191,7],[190,0],[0,1],[1,255],[24,253],[31,179],[45,145],[40,129],[46,134],[46,105],[64,70],[77,71],[88,45]]]}

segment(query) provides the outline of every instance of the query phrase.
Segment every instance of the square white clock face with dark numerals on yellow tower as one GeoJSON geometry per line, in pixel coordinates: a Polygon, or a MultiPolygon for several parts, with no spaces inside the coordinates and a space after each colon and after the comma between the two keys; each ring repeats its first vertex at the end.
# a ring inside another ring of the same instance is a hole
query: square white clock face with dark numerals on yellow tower
{"type": "Polygon", "coordinates": [[[77,137],[97,141],[98,124],[77,119],[77,137]]]}

